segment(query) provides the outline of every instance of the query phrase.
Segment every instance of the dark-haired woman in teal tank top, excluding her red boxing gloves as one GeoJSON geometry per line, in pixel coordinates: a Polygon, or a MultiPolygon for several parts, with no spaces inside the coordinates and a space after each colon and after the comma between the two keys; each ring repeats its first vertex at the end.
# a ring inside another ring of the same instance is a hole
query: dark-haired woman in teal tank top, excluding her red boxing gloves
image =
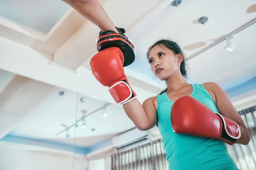
{"type": "MultiPolygon", "coordinates": [[[[159,40],[150,46],[147,56],[151,71],[166,82],[167,88],[160,95],[147,99],[142,104],[143,107],[137,100],[123,106],[139,129],[147,130],[157,124],[163,138],[169,169],[237,170],[236,164],[227,153],[225,142],[208,137],[176,134],[171,125],[175,122],[170,122],[174,111],[171,108],[175,101],[183,96],[191,96],[206,104],[213,112],[235,121],[241,132],[236,144],[248,144],[249,132],[225,91],[214,82],[187,83],[184,78],[184,54],[177,43],[171,40],[159,40]]],[[[184,102],[182,107],[196,107],[189,105],[191,103],[184,102]]],[[[208,124],[207,120],[198,117],[198,123],[201,121],[208,124]]]]}

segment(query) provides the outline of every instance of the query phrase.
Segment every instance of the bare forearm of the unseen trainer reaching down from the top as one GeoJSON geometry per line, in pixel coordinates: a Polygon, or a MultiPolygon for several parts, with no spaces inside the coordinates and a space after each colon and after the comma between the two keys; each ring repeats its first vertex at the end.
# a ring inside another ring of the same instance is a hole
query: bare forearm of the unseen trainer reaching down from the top
{"type": "Polygon", "coordinates": [[[62,0],[78,11],[83,17],[95,24],[101,31],[115,31],[115,24],[110,20],[98,0],[62,0]]]}

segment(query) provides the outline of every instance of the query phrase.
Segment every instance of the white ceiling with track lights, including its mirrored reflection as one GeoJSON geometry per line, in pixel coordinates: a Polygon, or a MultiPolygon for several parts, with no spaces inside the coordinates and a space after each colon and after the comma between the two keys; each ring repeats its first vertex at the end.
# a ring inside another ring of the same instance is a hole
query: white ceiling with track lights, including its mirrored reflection
{"type": "MultiPolygon", "coordinates": [[[[219,83],[237,110],[256,105],[254,1],[183,0],[178,7],[169,0],[100,2],[135,44],[135,62],[125,72],[141,102],[164,88],[150,72],[146,50],[160,38],[171,38],[187,56],[188,82],[219,83]],[[198,23],[203,16],[208,21],[198,23]],[[224,48],[230,34],[234,52],[224,48]]],[[[92,76],[89,63],[97,53],[99,29],[74,9],[60,0],[3,0],[0,30],[2,142],[71,152],[75,144],[76,152],[87,154],[135,127],[92,76]],[[105,104],[107,118],[101,116],[105,104]],[[85,110],[87,128],[82,129],[85,110]]]]}

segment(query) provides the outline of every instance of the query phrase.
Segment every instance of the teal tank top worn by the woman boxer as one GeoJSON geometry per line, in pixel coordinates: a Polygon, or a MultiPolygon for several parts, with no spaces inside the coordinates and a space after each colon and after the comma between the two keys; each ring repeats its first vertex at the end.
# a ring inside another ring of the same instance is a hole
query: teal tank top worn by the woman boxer
{"type": "MultiPolygon", "coordinates": [[[[192,88],[191,97],[218,113],[213,99],[202,84],[192,84],[192,88]]],[[[170,121],[174,102],[170,101],[166,92],[158,95],[157,100],[158,128],[162,135],[169,170],[239,170],[229,156],[224,141],[174,133],[170,121]]],[[[198,120],[201,121],[200,118],[198,120]]]]}

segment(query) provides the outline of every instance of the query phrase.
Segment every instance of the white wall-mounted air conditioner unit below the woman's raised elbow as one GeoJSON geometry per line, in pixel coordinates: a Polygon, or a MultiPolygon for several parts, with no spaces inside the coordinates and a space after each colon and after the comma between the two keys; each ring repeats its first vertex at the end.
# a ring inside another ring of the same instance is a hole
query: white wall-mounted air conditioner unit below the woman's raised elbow
{"type": "Polygon", "coordinates": [[[112,138],[112,147],[116,151],[133,148],[150,141],[147,131],[137,128],[124,132],[112,138]]]}

